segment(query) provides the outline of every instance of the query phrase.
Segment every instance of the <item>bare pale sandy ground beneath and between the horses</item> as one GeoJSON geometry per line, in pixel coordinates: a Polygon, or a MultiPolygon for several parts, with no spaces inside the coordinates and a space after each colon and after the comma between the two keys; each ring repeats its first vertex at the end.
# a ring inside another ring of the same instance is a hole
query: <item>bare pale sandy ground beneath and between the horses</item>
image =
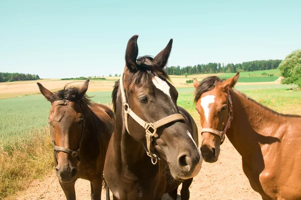
{"type": "MultiPolygon", "coordinates": [[[[202,141],[201,136],[199,139],[202,141]]],[[[180,188],[181,186],[178,194],[180,188]]],[[[75,189],[77,199],[90,199],[89,181],[77,180],[75,189]]],[[[55,200],[65,199],[65,195],[53,171],[44,180],[32,182],[27,190],[17,193],[13,199],[55,200]]],[[[102,190],[102,199],[105,199],[105,189],[102,190]]],[[[171,198],[166,194],[163,199],[171,198]]],[[[181,199],[180,195],[178,199],[181,199]]],[[[219,160],[216,163],[203,162],[200,173],[190,186],[190,199],[261,199],[261,197],[251,188],[242,171],[241,156],[226,139],[221,146],[219,160]]]]}

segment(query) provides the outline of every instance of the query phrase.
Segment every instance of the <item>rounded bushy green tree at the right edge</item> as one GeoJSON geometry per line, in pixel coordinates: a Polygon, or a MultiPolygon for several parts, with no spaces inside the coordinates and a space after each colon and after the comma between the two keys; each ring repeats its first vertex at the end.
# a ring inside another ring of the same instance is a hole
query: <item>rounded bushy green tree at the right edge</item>
{"type": "Polygon", "coordinates": [[[279,64],[283,84],[296,84],[301,87],[301,49],[291,52],[279,64]]]}

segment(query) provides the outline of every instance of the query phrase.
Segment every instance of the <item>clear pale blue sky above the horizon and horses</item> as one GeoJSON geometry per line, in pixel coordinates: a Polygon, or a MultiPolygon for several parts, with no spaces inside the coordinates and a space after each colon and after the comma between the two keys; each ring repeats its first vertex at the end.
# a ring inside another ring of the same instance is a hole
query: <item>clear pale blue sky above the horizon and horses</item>
{"type": "Polygon", "coordinates": [[[173,38],[169,66],[284,59],[301,48],[300,8],[299,0],[1,0],[0,71],[120,74],[135,34],[139,55],[156,56],[173,38]]]}

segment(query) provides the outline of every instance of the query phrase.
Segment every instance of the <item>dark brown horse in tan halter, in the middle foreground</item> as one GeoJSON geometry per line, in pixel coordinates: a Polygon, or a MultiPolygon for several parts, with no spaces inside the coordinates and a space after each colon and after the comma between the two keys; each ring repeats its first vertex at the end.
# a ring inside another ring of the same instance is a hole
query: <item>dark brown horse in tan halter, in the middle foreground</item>
{"type": "Polygon", "coordinates": [[[114,199],[162,199],[167,192],[189,199],[189,186],[202,165],[196,123],[177,107],[178,92],[164,67],[171,39],[155,58],[137,59],[135,35],[128,41],[124,72],[112,98],[116,117],[104,166],[114,199]]]}

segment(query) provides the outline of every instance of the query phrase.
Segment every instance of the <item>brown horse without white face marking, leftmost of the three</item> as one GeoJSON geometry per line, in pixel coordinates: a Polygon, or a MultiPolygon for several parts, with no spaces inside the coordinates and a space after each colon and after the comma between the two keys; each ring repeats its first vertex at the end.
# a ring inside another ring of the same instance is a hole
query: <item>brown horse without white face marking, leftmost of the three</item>
{"type": "Polygon", "coordinates": [[[91,198],[100,199],[105,154],[114,130],[113,112],[87,97],[89,79],[80,88],[66,85],[55,93],[37,84],[52,105],[48,122],[55,170],[66,198],[75,199],[75,181],[83,178],[91,183],[91,198]]]}

